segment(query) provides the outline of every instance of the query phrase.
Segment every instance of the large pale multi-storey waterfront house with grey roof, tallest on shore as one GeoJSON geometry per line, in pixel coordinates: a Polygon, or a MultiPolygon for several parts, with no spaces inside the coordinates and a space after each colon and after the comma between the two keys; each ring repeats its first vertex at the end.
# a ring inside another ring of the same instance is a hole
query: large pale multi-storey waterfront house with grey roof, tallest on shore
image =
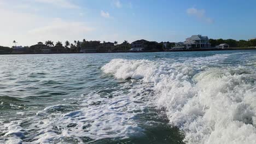
{"type": "Polygon", "coordinates": [[[184,41],[184,45],[187,49],[211,47],[208,37],[202,35],[192,35],[184,41]]]}

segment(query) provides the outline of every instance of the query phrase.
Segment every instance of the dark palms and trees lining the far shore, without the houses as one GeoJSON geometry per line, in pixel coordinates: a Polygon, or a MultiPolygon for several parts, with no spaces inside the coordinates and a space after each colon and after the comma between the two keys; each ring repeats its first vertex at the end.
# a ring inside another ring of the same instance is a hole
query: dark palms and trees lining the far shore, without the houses
{"type": "MultiPolygon", "coordinates": [[[[256,39],[251,40],[234,40],[234,39],[210,39],[209,42],[211,43],[212,47],[215,47],[220,44],[229,44],[230,47],[254,47],[256,46],[256,39]]],[[[13,41],[14,46],[7,47],[7,46],[0,46],[0,53],[11,53],[13,52],[14,48],[17,45],[17,42],[13,41]]],[[[128,43],[127,40],[124,40],[123,43],[118,45],[118,41],[114,41],[113,46],[106,46],[106,41],[98,40],[91,40],[87,41],[83,39],[82,41],[74,40],[73,43],[70,41],[65,41],[64,44],[62,44],[61,41],[57,41],[54,43],[54,41],[47,40],[45,43],[39,42],[38,44],[44,44],[46,46],[51,47],[51,49],[58,50],[59,52],[80,52],[82,49],[96,49],[97,52],[126,52],[131,49],[131,44],[128,43]]],[[[163,42],[158,43],[156,41],[148,41],[147,47],[144,47],[145,51],[152,51],[152,50],[163,50],[163,42]]],[[[33,46],[24,46],[23,49],[26,50],[26,52],[40,52],[39,50],[36,50],[33,46]]]]}

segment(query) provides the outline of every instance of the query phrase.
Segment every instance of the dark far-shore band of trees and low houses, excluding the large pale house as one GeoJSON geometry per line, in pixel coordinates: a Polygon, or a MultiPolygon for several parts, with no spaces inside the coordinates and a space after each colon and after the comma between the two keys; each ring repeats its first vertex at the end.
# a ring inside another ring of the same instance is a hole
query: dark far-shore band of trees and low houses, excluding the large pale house
{"type": "MultiPolygon", "coordinates": [[[[201,36],[201,35],[200,35],[201,36]]],[[[208,39],[211,44],[207,48],[199,47],[182,47],[182,49],[173,49],[176,44],[147,40],[136,40],[132,43],[128,43],[127,40],[123,43],[118,44],[118,41],[114,43],[103,41],[87,41],[83,39],[82,41],[74,40],[73,43],[65,41],[64,44],[61,41],[48,40],[45,43],[38,42],[31,46],[17,46],[17,42],[14,40],[12,47],[0,46],[0,54],[37,54],[37,53],[109,53],[109,52],[160,52],[160,51],[208,51],[217,50],[216,46],[221,44],[228,44],[231,48],[226,48],[222,50],[240,50],[240,49],[256,49],[256,39],[251,40],[234,40],[234,39],[208,39]]],[[[180,42],[183,43],[183,42],[180,42]]]]}

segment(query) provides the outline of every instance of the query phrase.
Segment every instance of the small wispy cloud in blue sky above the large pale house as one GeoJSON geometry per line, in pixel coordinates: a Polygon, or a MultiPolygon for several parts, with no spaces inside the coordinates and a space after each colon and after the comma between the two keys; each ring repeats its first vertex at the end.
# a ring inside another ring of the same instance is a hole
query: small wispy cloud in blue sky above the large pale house
{"type": "Polygon", "coordinates": [[[206,13],[205,13],[204,9],[189,8],[189,9],[187,9],[187,14],[191,15],[191,16],[195,16],[195,17],[197,17],[197,19],[205,21],[207,23],[213,23],[214,22],[213,19],[206,16],[206,13]]]}

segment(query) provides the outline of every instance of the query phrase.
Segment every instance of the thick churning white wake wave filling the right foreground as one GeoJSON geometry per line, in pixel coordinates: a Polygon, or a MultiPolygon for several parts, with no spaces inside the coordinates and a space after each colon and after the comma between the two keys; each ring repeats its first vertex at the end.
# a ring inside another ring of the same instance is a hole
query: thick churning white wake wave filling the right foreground
{"type": "Polygon", "coordinates": [[[187,143],[256,143],[255,69],[219,66],[229,55],[184,63],[113,59],[104,73],[154,83],[155,105],[187,143]]]}

